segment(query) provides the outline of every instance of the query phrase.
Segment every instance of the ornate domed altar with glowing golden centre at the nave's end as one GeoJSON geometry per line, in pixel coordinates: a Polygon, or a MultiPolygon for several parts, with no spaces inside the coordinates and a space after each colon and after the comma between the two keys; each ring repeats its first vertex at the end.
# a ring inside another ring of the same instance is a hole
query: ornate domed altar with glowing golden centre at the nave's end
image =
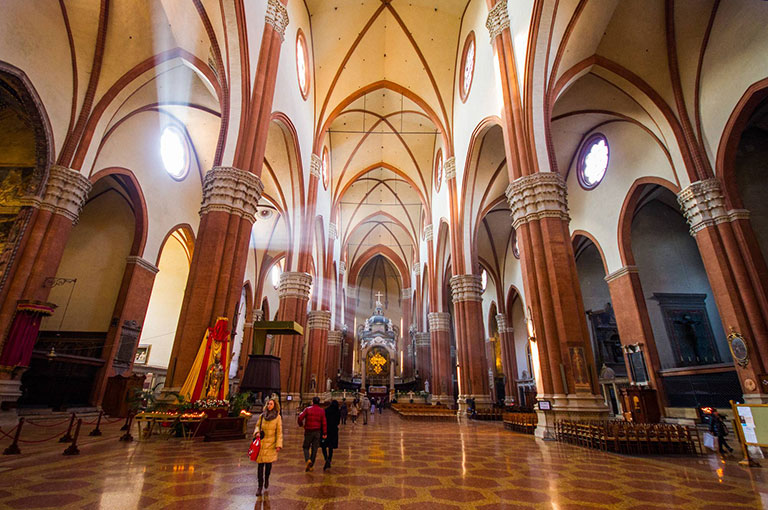
{"type": "Polygon", "coordinates": [[[360,334],[360,359],[364,363],[361,374],[362,389],[384,386],[390,397],[395,391],[395,355],[397,332],[392,321],[384,316],[381,293],[376,295],[376,308],[365,321],[360,334]]]}

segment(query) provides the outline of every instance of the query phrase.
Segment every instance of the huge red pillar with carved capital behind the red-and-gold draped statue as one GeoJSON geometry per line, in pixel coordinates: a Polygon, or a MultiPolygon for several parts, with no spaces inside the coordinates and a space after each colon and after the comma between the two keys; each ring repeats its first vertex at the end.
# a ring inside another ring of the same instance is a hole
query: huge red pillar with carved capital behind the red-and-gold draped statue
{"type": "Polygon", "coordinates": [[[200,227],[171,351],[169,389],[184,383],[206,328],[219,317],[232,325],[262,189],[256,175],[232,167],[214,167],[203,178],[200,227]]]}

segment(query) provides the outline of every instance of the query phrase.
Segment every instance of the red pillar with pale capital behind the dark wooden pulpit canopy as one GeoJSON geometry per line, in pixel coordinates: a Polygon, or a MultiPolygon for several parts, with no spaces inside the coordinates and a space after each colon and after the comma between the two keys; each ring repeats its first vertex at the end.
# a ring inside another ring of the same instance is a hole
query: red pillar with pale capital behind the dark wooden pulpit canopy
{"type": "MultiPolygon", "coordinates": [[[[284,271],[280,275],[280,285],[277,288],[279,305],[277,320],[295,321],[305,326],[307,324],[307,303],[312,276],[309,273],[284,271]]],[[[307,336],[309,331],[305,330],[307,336]]],[[[280,391],[283,402],[288,395],[293,402],[301,398],[301,366],[302,351],[305,337],[298,335],[276,335],[273,339],[272,354],[280,358],[280,391]]]]}

